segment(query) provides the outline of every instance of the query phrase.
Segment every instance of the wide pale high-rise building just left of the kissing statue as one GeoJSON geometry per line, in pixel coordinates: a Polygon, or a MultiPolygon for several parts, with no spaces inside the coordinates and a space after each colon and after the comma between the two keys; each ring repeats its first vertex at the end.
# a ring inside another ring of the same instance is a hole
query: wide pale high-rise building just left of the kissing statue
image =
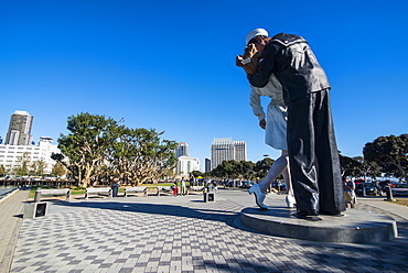
{"type": "Polygon", "coordinates": [[[214,139],[211,145],[211,170],[223,161],[246,161],[247,149],[245,141],[233,141],[232,138],[214,139]]]}

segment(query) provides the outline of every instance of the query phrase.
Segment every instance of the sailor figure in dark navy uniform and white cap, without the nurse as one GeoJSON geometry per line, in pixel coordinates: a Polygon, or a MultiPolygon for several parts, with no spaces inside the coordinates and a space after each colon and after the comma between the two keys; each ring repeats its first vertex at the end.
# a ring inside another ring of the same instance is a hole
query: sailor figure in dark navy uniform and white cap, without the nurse
{"type": "MultiPolygon", "coordinates": [[[[329,100],[331,86],[308,42],[279,33],[269,37],[256,29],[246,37],[260,52],[261,62],[249,84],[265,87],[272,74],[282,85],[288,108],[287,140],[290,172],[299,218],[342,216],[345,210],[340,157],[329,100]]],[[[243,61],[236,57],[236,63],[243,61]]]]}

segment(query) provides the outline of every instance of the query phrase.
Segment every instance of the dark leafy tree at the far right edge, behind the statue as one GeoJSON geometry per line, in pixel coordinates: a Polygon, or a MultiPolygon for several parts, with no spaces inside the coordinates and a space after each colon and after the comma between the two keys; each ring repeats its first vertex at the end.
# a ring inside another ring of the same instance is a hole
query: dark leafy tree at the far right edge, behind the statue
{"type": "Polygon", "coordinates": [[[375,162],[408,181],[408,134],[379,136],[363,149],[364,160],[375,162]]]}

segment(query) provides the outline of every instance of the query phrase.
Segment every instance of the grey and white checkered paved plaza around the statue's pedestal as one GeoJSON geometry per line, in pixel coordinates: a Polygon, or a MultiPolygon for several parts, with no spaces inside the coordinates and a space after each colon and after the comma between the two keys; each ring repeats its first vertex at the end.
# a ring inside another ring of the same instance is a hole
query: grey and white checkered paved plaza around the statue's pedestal
{"type": "MultiPolygon", "coordinates": [[[[0,204],[0,229],[13,229],[12,222],[2,225],[14,221],[13,230],[20,230],[4,236],[6,249],[17,245],[12,263],[13,251],[3,259],[10,269],[2,265],[1,273],[407,272],[404,228],[398,239],[375,244],[266,236],[240,225],[240,210],[254,206],[243,190],[218,190],[215,203],[204,203],[202,195],[51,201],[46,217],[22,220],[25,194],[0,204]],[[18,212],[3,218],[11,209],[18,212]]],[[[408,222],[408,207],[383,199],[361,198],[357,208],[394,216],[398,226],[408,222]]],[[[284,196],[271,195],[266,204],[283,206],[284,196]]]]}

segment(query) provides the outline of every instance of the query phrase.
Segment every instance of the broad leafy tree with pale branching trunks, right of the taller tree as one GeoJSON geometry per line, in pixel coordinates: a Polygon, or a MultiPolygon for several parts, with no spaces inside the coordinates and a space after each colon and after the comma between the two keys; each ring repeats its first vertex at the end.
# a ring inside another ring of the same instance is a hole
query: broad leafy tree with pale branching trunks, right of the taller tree
{"type": "Polygon", "coordinates": [[[163,133],[154,129],[122,129],[108,157],[116,174],[132,185],[139,185],[149,178],[157,182],[171,172],[176,164],[176,142],[161,140],[163,133]]]}

